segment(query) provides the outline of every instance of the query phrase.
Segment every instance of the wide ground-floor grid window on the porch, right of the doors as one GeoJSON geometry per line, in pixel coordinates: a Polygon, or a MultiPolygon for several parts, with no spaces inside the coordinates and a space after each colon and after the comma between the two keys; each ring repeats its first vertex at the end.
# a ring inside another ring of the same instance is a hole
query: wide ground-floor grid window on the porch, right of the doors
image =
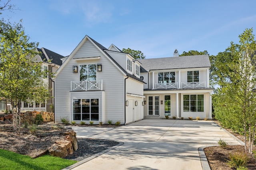
{"type": "Polygon", "coordinates": [[[183,111],[204,111],[203,94],[186,94],[183,95],[183,111]]]}

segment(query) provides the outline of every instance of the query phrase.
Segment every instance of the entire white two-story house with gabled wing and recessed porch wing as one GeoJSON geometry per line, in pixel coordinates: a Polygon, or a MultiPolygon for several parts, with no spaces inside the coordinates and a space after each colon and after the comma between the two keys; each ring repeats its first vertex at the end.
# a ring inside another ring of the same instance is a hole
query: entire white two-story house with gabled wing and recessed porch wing
{"type": "Polygon", "coordinates": [[[123,124],[144,117],[212,119],[208,55],[140,59],[88,37],[62,59],[55,82],[55,121],[123,124]]]}

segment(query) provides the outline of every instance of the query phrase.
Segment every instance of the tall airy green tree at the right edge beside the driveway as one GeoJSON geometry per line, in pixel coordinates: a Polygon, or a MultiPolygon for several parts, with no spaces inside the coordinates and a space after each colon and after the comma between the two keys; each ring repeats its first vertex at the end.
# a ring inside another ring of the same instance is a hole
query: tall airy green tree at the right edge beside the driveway
{"type": "Polygon", "coordinates": [[[252,29],[246,29],[239,38],[239,44],[231,42],[214,59],[214,80],[220,87],[215,91],[213,105],[216,118],[223,125],[244,133],[245,150],[252,153],[256,130],[256,43],[252,29]]]}

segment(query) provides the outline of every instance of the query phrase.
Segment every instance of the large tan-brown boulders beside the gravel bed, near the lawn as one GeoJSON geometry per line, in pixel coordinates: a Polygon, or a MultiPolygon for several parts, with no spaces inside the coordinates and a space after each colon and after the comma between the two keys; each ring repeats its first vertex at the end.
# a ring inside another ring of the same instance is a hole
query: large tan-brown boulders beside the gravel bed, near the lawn
{"type": "Polygon", "coordinates": [[[60,135],[64,135],[65,138],[55,141],[55,143],[48,148],[48,152],[52,156],[64,158],[69,154],[73,154],[73,152],[78,149],[76,132],[72,129],[68,129],[68,131],[60,133],[60,135]]]}

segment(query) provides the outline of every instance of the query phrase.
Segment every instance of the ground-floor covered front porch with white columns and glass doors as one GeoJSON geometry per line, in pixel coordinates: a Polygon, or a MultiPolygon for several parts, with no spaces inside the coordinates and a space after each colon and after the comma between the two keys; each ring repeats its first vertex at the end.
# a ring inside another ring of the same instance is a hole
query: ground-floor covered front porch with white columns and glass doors
{"type": "Polygon", "coordinates": [[[144,91],[144,118],[212,119],[212,89],[144,91]]]}

